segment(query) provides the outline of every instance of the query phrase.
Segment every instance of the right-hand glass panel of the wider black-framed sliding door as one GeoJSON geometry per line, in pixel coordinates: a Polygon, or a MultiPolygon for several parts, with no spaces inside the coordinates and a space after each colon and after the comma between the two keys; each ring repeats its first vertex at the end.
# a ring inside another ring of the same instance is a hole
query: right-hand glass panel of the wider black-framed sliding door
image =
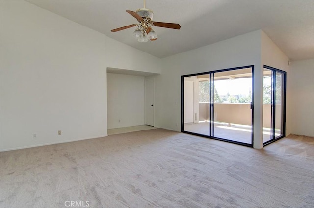
{"type": "Polygon", "coordinates": [[[213,75],[213,136],[252,144],[252,68],[213,75]]]}

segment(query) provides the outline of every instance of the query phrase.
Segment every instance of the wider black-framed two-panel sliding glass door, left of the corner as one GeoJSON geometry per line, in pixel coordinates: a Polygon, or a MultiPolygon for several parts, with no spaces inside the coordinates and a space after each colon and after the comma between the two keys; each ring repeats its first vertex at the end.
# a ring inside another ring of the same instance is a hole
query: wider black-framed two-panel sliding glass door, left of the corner
{"type": "Polygon", "coordinates": [[[253,66],[182,76],[183,132],[252,146],[253,66]]]}

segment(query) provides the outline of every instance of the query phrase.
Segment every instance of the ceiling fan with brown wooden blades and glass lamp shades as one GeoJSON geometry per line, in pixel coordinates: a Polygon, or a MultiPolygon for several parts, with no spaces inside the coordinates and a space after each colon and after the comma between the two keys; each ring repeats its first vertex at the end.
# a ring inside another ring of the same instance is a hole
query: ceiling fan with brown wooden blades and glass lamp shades
{"type": "Polygon", "coordinates": [[[146,8],[146,3],[144,0],[144,8],[137,9],[136,12],[126,10],[131,14],[138,23],[129,26],[123,26],[116,29],[112,29],[111,32],[117,32],[123,29],[128,29],[133,26],[137,26],[137,29],[133,32],[133,36],[137,38],[138,42],[147,42],[148,39],[151,41],[157,40],[157,34],[152,29],[152,26],[159,26],[171,29],[180,29],[180,25],[177,23],[162,23],[153,21],[153,11],[146,8]],[[146,34],[145,34],[146,33],[146,34]]]}

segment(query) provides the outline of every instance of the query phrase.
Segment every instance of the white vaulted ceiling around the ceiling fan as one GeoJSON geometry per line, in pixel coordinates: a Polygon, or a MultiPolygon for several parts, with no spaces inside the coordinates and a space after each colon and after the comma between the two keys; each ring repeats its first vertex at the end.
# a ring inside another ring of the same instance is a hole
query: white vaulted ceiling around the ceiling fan
{"type": "Polygon", "coordinates": [[[29,1],[106,36],[157,57],[196,49],[262,29],[291,59],[314,58],[314,1],[147,0],[154,21],[179,23],[180,30],[155,27],[156,41],[139,43],[137,23],[125,10],[143,7],[138,0],[29,1]]]}

